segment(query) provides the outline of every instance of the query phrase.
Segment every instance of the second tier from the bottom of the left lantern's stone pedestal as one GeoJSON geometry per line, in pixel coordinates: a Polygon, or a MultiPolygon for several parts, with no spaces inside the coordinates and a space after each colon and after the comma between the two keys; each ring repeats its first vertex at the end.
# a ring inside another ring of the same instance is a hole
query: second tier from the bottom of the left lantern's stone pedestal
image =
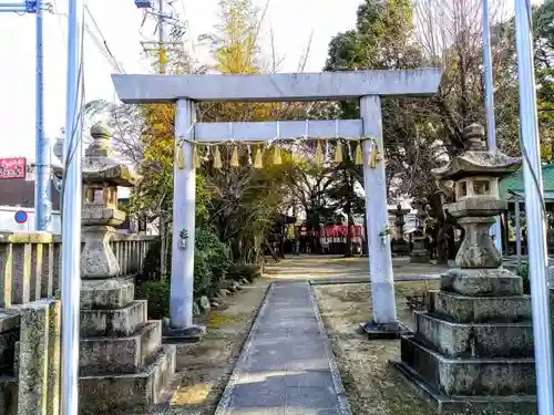
{"type": "Polygon", "coordinates": [[[151,362],[161,342],[161,321],[148,321],[136,333],[125,338],[81,339],[80,373],[135,373],[151,362]]]}

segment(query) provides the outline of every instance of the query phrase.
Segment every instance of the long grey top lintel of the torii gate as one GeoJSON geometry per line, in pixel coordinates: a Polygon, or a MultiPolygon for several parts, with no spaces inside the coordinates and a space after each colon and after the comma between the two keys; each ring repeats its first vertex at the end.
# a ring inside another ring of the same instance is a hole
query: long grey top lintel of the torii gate
{"type": "Polygon", "coordinates": [[[201,102],[338,101],[367,95],[425,96],[439,89],[442,70],[275,73],[259,75],[112,75],[126,104],[201,102]]]}

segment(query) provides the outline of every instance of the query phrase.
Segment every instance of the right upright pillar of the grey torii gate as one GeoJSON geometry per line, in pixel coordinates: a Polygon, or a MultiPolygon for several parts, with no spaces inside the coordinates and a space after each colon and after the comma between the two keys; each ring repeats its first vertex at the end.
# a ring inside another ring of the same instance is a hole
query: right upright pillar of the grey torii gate
{"type": "MultiPolygon", "coordinates": [[[[379,151],[384,154],[380,97],[362,96],[360,100],[360,114],[363,120],[363,135],[376,138],[379,151]]],[[[398,320],[390,240],[388,236],[382,239],[379,236],[389,224],[384,162],[378,162],[376,168],[369,167],[368,160],[371,145],[369,139],[363,141],[363,188],[366,191],[366,216],[368,218],[367,236],[373,323],[392,326],[398,324],[398,320]]]]}

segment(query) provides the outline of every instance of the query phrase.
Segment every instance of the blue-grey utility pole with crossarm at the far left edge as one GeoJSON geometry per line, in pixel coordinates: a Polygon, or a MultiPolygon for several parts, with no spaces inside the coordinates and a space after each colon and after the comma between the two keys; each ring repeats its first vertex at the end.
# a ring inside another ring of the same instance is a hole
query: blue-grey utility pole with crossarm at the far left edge
{"type": "Polygon", "coordinates": [[[34,127],[35,127],[35,175],[34,175],[34,228],[50,231],[52,227],[51,201],[51,148],[44,135],[44,55],[43,55],[43,10],[50,6],[43,0],[27,0],[19,3],[0,3],[0,12],[23,12],[35,15],[35,86],[34,86],[34,127]]]}

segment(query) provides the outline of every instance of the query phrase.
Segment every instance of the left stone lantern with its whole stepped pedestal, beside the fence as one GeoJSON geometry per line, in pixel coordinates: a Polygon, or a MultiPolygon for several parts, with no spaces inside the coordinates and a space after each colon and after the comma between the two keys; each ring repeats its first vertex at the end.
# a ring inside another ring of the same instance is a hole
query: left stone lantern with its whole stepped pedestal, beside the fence
{"type": "Polygon", "coordinates": [[[125,219],[117,186],[137,178],[113,157],[105,126],[94,125],[91,135],[82,166],[80,413],[147,413],[172,382],[175,347],[162,345],[162,322],[147,320],[147,302],[135,300],[134,278],[111,247],[125,219]]]}

